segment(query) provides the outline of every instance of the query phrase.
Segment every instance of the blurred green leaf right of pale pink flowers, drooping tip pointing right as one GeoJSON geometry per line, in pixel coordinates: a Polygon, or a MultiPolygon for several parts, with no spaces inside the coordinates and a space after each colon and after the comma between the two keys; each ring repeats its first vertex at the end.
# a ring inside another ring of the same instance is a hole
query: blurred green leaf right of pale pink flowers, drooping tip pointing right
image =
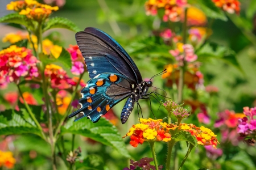
{"type": "Polygon", "coordinates": [[[236,53],[226,46],[205,44],[196,52],[199,61],[206,61],[207,59],[220,59],[221,61],[236,67],[242,73],[243,70],[238,63],[236,53]]]}

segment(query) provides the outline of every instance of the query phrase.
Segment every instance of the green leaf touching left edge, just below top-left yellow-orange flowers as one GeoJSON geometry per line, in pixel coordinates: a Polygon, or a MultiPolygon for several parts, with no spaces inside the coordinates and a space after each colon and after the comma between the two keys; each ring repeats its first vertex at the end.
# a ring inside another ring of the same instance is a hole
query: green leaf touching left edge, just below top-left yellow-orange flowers
{"type": "Polygon", "coordinates": [[[24,25],[29,28],[30,24],[27,21],[27,17],[25,15],[19,15],[18,13],[7,14],[0,18],[0,23],[15,23],[24,25]]]}

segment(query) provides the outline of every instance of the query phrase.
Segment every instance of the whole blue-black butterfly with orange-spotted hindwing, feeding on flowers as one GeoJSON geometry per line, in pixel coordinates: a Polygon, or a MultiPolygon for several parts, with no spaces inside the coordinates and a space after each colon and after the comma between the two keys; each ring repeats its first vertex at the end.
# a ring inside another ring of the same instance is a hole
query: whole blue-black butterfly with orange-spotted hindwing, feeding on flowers
{"type": "MultiPolygon", "coordinates": [[[[143,81],[138,67],[125,49],[107,33],[97,28],[85,28],[76,33],[76,41],[90,80],[81,90],[81,108],[68,117],[79,115],[97,122],[115,104],[128,98],[121,113],[125,124],[139,99],[150,99],[151,80],[143,81]]],[[[139,105],[140,107],[140,105],[139,105]]]]}

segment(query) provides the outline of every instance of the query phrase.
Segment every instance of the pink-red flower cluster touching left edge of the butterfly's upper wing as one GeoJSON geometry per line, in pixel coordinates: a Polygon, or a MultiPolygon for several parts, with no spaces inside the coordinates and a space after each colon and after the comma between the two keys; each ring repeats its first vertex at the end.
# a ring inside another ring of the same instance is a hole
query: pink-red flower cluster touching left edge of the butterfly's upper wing
{"type": "Polygon", "coordinates": [[[71,54],[71,59],[73,64],[71,73],[74,75],[80,75],[84,73],[84,70],[86,70],[86,67],[84,64],[84,59],[82,57],[82,54],[79,50],[79,46],[69,45],[69,48],[67,50],[71,54]]]}

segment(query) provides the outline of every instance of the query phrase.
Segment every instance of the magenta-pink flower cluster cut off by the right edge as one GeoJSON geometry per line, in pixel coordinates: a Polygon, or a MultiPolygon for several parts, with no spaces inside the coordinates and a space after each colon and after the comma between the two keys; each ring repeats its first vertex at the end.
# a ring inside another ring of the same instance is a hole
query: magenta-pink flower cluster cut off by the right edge
{"type": "Polygon", "coordinates": [[[244,117],[238,120],[238,133],[241,138],[249,143],[255,145],[256,139],[256,107],[243,108],[244,117]]]}

